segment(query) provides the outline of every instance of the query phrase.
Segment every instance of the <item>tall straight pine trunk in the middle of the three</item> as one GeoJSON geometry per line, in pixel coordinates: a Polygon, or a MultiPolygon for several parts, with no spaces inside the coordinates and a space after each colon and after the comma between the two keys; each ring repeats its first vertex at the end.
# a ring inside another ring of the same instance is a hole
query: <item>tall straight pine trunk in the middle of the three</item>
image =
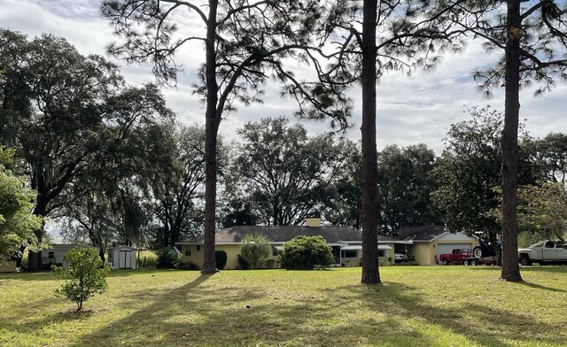
{"type": "Polygon", "coordinates": [[[362,283],[380,283],[377,241],[377,0],[364,0],[362,19],[362,283]]]}

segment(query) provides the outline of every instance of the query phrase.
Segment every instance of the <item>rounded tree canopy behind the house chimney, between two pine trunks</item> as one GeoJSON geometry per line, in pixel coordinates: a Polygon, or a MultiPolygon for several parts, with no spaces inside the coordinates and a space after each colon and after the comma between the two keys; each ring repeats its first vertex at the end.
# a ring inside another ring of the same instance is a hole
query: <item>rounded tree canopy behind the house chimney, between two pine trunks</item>
{"type": "Polygon", "coordinates": [[[231,169],[233,198],[251,204],[256,222],[300,225],[322,208],[354,145],[330,133],[314,137],[289,120],[263,119],[238,130],[231,169]]]}

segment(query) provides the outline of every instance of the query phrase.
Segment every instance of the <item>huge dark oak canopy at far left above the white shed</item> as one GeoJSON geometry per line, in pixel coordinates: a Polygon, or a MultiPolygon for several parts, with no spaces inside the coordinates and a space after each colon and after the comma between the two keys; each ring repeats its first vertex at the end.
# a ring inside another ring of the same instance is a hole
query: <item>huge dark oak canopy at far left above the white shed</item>
{"type": "MultiPolygon", "coordinates": [[[[115,208],[98,203],[151,180],[146,174],[161,163],[164,151],[155,130],[173,118],[159,89],[126,85],[117,66],[84,57],[54,35],[28,40],[2,30],[0,42],[0,141],[26,162],[22,173],[36,191],[35,215],[73,217],[79,208],[92,219],[89,205],[115,208]]],[[[122,199],[120,205],[127,216],[132,204],[122,199]]],[[[41,242],[43,228],[35,235],[41,242]]],[[[32,252],[30,268],[40,262],[32,252]]]]}

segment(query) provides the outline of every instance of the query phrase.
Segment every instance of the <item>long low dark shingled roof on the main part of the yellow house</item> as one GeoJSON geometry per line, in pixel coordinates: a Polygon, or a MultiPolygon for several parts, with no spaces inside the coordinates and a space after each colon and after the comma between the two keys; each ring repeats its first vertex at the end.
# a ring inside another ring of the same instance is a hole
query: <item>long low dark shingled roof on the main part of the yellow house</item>
{"type": "MultiPolygon", "coordinates": [[[[327,243],[362,241],[362,232],[348,227],[302,227],[302,226],[236,226],[221,229],[216,232],[215,243],[241,243],[245,235],[260,234],[271,243],[285,243],[299,235],[321,235],[327,243]]],[[[203,236],[179,242],[203,243],[203,236]]],[[[392,237],[378,236],[379,242],[400,241],[392,237]]]]}

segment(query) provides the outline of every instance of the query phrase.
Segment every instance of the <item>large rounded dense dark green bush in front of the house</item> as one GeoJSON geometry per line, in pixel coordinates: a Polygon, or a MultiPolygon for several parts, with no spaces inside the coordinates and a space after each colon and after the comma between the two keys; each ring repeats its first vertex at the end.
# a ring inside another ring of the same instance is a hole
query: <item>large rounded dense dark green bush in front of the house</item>
{"type": "Polygon", "coordinates": [[[322,236],[299,235],[283,244],[280,266],[288,270],[312,270],[326,267],[333,262],[330,245],[322,236]]]}

